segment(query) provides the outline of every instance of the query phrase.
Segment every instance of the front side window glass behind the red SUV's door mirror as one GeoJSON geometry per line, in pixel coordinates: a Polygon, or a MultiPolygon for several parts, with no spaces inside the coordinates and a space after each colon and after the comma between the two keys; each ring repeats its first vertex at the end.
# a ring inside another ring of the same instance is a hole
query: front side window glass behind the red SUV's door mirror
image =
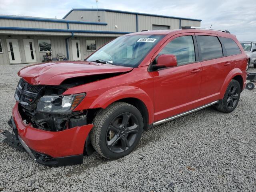
{"type": "Polygon", "coordinates": [[[178,65],[195,61],[195,48],[192,36],[177,37],[168,43],[159,55],[173,54],[177,58],[178,65]]]}

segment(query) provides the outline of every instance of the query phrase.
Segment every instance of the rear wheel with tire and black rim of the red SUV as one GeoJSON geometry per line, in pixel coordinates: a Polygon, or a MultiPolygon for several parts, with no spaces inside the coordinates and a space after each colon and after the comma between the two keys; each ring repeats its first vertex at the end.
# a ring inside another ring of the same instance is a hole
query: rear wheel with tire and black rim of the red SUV
{"type": "Polygon", "coordinates": [[[236,108],[240,99],[240,84],[236,80],[231,80],[224,94],[224,98],[219,100],[216,108],[220,112],[230,113],[236,108]]]}

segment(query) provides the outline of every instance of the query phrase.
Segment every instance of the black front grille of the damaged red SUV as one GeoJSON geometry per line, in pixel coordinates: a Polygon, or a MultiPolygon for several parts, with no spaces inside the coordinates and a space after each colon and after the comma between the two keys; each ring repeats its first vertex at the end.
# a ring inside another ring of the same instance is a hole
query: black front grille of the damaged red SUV
{"type": "Polygon", "coordinates": [[[21,78],[16,88],[15,98],[21,104],[29,105],[34,102],[42,88],[42,85],[31,85],[21,78]]]}

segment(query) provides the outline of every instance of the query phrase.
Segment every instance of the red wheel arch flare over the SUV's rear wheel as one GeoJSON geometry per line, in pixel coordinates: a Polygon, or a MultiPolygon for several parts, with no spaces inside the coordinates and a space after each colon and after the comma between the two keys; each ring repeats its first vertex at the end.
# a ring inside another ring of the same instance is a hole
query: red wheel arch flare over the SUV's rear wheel
{"type": "MultiPolygon", "coordinates": [[[[246,82],[246,72],[242,72],[240,70],[240,68],[234,68],[232,69],[229,74],[226,76],[226,79],[224,80],[224,83],[220,89],[220,98],[219,99],[222,99],[224,98],[224,94],[226,92],[226,89],[228,88],[228,84],[230,83],[230,81],[237,75],[240,75],[242,76],[243,78],[243,82],[244,82],[244,86],[245,86],[245,82],[246,82]]],[[[242,89],[244,88],[244,86],[242,87],[242,89]]]]}

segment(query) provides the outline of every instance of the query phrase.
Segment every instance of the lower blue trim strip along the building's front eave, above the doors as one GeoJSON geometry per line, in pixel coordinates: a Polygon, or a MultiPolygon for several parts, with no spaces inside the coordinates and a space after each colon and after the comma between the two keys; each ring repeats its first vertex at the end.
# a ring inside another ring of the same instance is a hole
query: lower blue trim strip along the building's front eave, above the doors
{"type": "Polygon", "coordinates": [[[69,33],[99,33],[99,34],[128,34],[128,33],[133,33],[133,32],[122,32],[122,31],[90,31],[90,30],[44,29],[44,28],[23,28],[23,27],[0,27],[0,30],[69,32],[69,33]]]}

